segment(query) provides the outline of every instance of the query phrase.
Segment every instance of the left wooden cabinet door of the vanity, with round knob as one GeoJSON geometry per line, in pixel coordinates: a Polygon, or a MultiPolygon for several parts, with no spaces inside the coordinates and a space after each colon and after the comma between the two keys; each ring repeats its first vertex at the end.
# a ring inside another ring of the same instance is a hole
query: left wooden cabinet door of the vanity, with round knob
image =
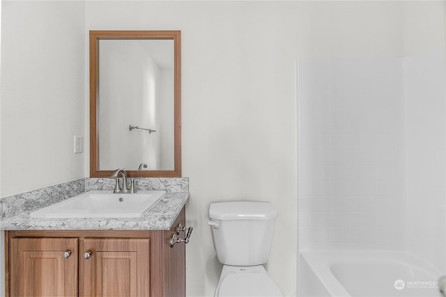
{"type": "Polygon", "coordinates": [[[77,244],[77,238],[10,239],[10,296],[77,296],[77,244]]]}

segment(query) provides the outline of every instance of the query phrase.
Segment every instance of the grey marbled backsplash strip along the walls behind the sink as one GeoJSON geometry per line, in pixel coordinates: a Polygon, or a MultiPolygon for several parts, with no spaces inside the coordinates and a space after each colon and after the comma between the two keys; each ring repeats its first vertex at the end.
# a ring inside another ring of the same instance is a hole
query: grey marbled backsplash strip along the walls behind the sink
{"type": "MultiPolygon", "coordinates": [[[[1,218],[17,216],[22,212],[46,207],[66,198],[93,190],[113,190],[115,181],[107,178],[82,178],[63,184],[3,197],[0,200],[1,218]]],[[[164,190],[168,192],[188,192],[189,179],[178,178],[144,178],[137,180],[139,190],[164,190]]]]}

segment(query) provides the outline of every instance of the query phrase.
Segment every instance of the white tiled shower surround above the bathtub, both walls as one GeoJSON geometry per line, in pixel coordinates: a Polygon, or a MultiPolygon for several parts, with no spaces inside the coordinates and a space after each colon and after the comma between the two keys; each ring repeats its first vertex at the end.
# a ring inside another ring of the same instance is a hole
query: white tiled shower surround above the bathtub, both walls
{"type": "Polygon", "coordinates": [[[299,250],[407,250],[445,268],[444,63],[298,62],[299,250]]]}

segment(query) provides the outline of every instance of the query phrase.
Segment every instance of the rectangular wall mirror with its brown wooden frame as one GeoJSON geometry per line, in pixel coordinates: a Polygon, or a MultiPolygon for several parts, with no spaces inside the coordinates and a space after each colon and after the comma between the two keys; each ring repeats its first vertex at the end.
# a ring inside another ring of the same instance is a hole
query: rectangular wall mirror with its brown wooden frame
{"type": "Polygon", "coordinates": [[[180,31],[90,31],[90,177],[180,177],[180,31]]]}

